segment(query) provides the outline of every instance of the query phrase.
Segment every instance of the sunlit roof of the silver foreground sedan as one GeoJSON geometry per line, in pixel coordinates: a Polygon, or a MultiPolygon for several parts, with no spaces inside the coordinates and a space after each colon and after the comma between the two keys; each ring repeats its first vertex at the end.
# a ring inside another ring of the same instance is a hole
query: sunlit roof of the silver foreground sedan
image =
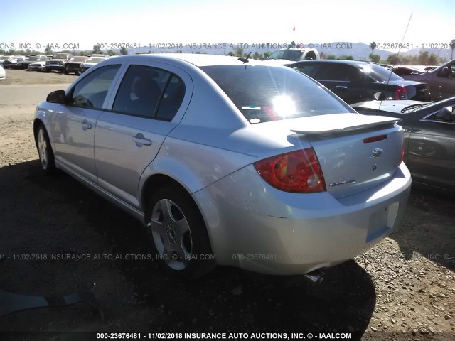
{"type": "MultiPolygon", "coordinates": [[[[198,67],[208,65],[242,65],[238,57],[228,55],[205,55],[198,53],[156,53],[150,55],[122,55],[114,58],[134,58],[166,62],[166,60],[183,60],[198,67]]],[[[109,59],[114,59],[109,58],[109,59]]],[[[117,59],[118,60],[118,59],[117,59]]],[[[247,65],[265,65],[262,60],[248,59],[247,65]]]]}

